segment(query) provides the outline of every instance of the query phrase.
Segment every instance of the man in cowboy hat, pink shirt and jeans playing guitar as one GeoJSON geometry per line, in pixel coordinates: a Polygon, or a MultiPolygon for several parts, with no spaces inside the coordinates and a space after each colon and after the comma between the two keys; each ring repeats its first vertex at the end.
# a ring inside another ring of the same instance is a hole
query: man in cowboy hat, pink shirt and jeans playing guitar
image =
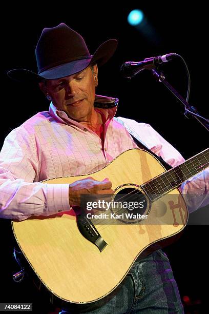
{"type": "MultiPolygon", "coordinates": [[[[136,148],[127,129],[114,118],[117,100],[95,95],[98,67],[106,63],[117,46],[103,43],[92,56],[83,38],[65,24],[45,28],[36,47],[38,74],[16,69],[15,80],[38,83],[51,101],[49,112],[40,112],[6,138],[1,151],[1,217],[24,220],[31,215],[51,215],[80,205],[81,194],[112,194],[108,178],[89,177],[73,184],[39,181],[66,175],[92,173],[106,166],[121,152],[136,148]]],[[[184,160],[151,126],[121,118],[153,152],[176,166],[184,160]]],[[[205,171],[190,180],[184,193],[202,194],[206,204],[205,171]],[[194,183],[195,182],[195,183],[194,183]]],[[[207,177],[208,178],[208,177],[207,177]]],[[[194,210],[194,209],[193,209],[194,210]]],[[[182,313],[178,288],[168,258],[157,250],[134,263],[120,289],[86,305],[64,304],[64,312],[91,313],[182,313]],[[69,308],[69,311],[68,311],[69,308]]]]}

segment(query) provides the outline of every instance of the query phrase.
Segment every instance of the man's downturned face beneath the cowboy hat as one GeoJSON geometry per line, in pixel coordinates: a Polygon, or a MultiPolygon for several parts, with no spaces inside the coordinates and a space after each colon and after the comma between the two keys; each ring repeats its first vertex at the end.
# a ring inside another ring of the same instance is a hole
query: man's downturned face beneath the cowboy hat
{"type": "Polygon", "coordinates": [[[89,121],[94,108],[95,87],[97,86],[97,66],[90,67],[73,75],[47,80],[40,88],[48,92],[58,110],[78,122],[89,121]]]}

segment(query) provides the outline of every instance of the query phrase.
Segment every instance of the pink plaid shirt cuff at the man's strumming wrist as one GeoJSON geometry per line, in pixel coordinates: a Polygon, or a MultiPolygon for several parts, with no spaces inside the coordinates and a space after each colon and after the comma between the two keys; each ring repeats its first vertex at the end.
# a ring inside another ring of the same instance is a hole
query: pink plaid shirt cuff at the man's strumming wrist
{"type": "Polygon", "coordinates": [[[47,215],[71,209],[69,204],[69,184],[46,184],[46,187],[47,215]]]}

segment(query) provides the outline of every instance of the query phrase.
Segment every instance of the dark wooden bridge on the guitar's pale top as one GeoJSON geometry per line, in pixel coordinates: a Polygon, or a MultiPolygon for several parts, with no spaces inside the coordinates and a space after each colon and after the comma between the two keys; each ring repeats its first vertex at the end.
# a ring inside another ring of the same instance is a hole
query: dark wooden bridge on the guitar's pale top
{"type": "Polygon", "coordinates": [[[95,244],[100,252],[108,245],[105,240],[102,239],[93,223],[87,219],[85,214],[76,214],[76,221],[78,229],[83,237],[95,244]]]}

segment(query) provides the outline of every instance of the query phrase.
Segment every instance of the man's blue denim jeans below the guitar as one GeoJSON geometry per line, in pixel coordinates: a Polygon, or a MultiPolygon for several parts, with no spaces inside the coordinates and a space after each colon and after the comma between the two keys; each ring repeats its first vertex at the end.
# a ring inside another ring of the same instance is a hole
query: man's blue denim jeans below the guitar
{"type": "Polygon", "coordinates": [[[157,250],[135,262],[119,289],[87,305],[63,308],[60,313],[182,314],[178,287],[166,254],[157,250]]]}

